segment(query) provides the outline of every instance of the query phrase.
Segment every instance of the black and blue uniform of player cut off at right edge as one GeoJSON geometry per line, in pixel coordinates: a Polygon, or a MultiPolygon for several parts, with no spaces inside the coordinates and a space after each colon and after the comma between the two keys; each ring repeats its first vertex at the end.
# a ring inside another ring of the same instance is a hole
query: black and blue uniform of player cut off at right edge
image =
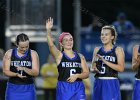
{"type": "MultiPolygon", "coordinates": [[[[140,53],[140,46],[138,49],[138,53],[140,53]]],[[[140,66],[138,67],[138,72],[135,75],[135,83],[133,88],[133,96],[132,100],[139,100],[140,98],[140,66]]]]}

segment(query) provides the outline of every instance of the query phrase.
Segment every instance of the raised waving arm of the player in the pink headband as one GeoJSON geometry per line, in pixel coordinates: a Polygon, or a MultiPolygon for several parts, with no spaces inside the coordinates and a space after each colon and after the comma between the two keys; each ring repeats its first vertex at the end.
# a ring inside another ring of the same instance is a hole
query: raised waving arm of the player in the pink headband
{"type": "Polygon", "coordinates": [[[51,34],[52,27],[53,27],[53,19],[50,17],[46,21],[47,42],[48,42],[48,45],[49,45],[49,49],[50,49],[51,54],[56,59],[58,59],[58,57],[61,54],[61,52],[57,49],[57,47],[53,43],[52,34],[51,34]]]}

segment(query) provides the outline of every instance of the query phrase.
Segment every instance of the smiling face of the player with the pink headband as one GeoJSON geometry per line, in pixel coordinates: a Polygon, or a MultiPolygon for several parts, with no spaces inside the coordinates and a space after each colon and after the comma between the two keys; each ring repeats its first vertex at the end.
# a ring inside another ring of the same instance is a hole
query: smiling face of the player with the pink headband
{"type": "Polygon", "coordinates": [[[66,35],[63,38],[62,45],[64,49],[72,49],[73,47],[73,37],[71,35],[66,35]]]}

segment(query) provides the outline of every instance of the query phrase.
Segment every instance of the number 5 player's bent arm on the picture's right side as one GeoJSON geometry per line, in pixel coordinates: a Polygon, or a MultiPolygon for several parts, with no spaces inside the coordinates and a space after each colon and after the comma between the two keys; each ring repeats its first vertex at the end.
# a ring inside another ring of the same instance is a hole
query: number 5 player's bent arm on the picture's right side
{"type": "MultiPolygon", "coordinates": [[[[100,56],[100,55],[98,55],[98,56],[100,56]]],[[[112,68],[116,71],[119,71],[119,72],[123,72],[124,66],[125,66],[125,61],[124,61],[125,55],[124,55],[123,48],[121,48],[121,47],[116,48],[116,56],[117,56],[117,62],[118,62],[117,64],[106,61],[103,57],[100,57],[100,58],[110,68],[112,68]]]]}

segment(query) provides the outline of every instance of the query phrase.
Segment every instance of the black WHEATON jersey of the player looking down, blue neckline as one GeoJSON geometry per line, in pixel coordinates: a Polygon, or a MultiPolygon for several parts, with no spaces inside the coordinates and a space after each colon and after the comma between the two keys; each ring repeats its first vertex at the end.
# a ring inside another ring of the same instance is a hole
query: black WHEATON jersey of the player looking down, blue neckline
{"type": "Polygon", "coordinates": [[[32,84],[34,82],[33,77],[28,75],[24,71],[18,71],[16,67],[26,67],[32,68],[32,58],[31,58],[31,50],[28,49],[22,57],[17,55],[17,49],[12,50],[11,62],[10,62],[10,71],[19,73],[22,76],[26,76],[26,78],[19,77],[10,77],[9,82],[14,84],[32,84]]]}

